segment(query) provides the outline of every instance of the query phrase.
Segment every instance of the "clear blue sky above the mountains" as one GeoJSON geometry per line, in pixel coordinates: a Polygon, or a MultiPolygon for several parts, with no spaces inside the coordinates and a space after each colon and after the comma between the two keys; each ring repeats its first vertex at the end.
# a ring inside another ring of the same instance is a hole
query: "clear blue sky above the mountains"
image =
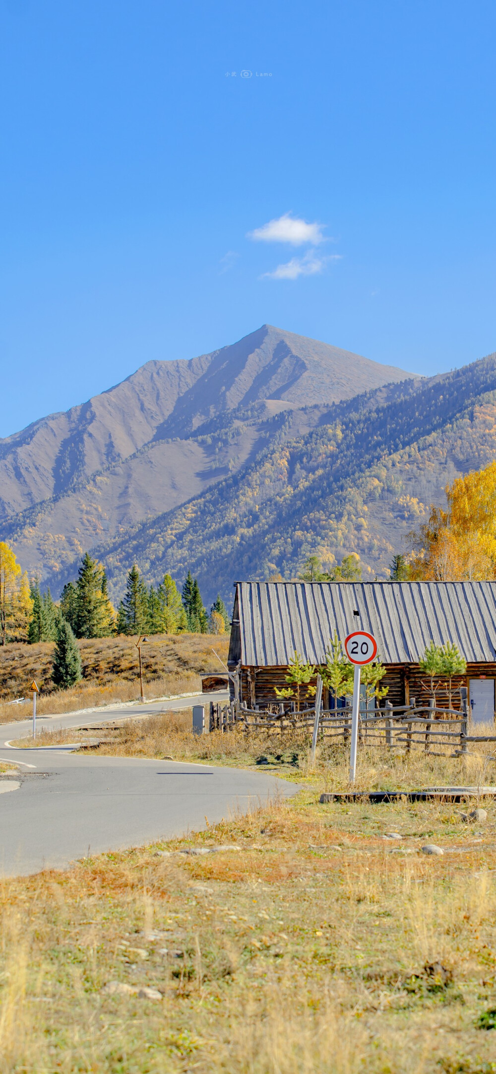
{"type": "Polygon", "coordinates": [[[265,321],[424,374],[495,350],[495,30],[0,0],[0,435],[265,321]]]}

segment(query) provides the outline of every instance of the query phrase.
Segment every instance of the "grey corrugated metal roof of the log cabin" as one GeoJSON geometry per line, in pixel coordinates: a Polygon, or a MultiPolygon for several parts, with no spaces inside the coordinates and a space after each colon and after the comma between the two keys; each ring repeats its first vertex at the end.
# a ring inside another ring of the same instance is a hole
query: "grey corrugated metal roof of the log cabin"
{"type": "Polygon", "coordinates": [[[334,629],[344,641],[361,626],[384,664],[417,664],[431,640],[496,659],[496,582],[238,582],[237,596],[243,665],[287,665],[294,650],[321,664],[334,629]]]}

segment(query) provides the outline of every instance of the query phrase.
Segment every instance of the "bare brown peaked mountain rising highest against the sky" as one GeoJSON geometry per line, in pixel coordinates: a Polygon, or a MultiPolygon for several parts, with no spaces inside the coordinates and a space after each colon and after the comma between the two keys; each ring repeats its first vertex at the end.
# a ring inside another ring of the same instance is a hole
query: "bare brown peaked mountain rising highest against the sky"
{"type": "Polygon", "coordinates": [[[52,577],[83,551],[250,465],[311,406],[411,378],[265,324],[189,361],[152,361],[65,413],[0,440],[0,537],[52,577]],[[293,418],[288,423],[288,412],[293,418]]]}

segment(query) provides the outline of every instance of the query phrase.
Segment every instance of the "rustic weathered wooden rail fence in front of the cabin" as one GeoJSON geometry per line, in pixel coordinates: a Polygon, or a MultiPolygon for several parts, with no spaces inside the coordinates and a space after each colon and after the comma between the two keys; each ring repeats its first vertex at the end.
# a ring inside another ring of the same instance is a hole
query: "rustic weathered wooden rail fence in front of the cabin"
{"type": "MultiPolygon", "coordinates": [[[[247,734],[283,736],[287,732],[311,734],[315,710],[301,712],[269,712],[248,709],[245,706],[221,705],[210,701],[209,730],[232,731],[239,726],[247,734]]],[[[362,709],[359,720],[359,742],[364,745],[384,746],[388,750],[422,750],[432,756],[466,754],[469,742],[496,742],[496,735],[470,735],[466,699],[459,709],[399,706],[389,702],[383,709],[362,709]]],[[[319,739],[347,745],[351,735],[351,707],[323,711],[319,720],[319,739]]]]}

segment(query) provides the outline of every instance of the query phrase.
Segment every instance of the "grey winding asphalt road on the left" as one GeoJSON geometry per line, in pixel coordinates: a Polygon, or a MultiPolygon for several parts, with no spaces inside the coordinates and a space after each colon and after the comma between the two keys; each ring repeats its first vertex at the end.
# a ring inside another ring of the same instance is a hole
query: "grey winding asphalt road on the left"
{"type": "MultiPolygon", "coordinates": [[[[37,726],[88,727],[224,696],[204,694],[86,716],[42,716],[37,726]]],[[[14,780],[0,780],[0,870],[5,876],[63,868],[87,854],[199,831],[205,828],[205,817],[215,824],[296,789],[266,772],[135,757],[91,757],[61,746],[13,750],[6,745],[30,729],[30,723],[24,721],[0,727],[0,759],[18,763],[21,772],[14,780]],[[18,789],[8,793],[8,785],[18,789]]]]}

